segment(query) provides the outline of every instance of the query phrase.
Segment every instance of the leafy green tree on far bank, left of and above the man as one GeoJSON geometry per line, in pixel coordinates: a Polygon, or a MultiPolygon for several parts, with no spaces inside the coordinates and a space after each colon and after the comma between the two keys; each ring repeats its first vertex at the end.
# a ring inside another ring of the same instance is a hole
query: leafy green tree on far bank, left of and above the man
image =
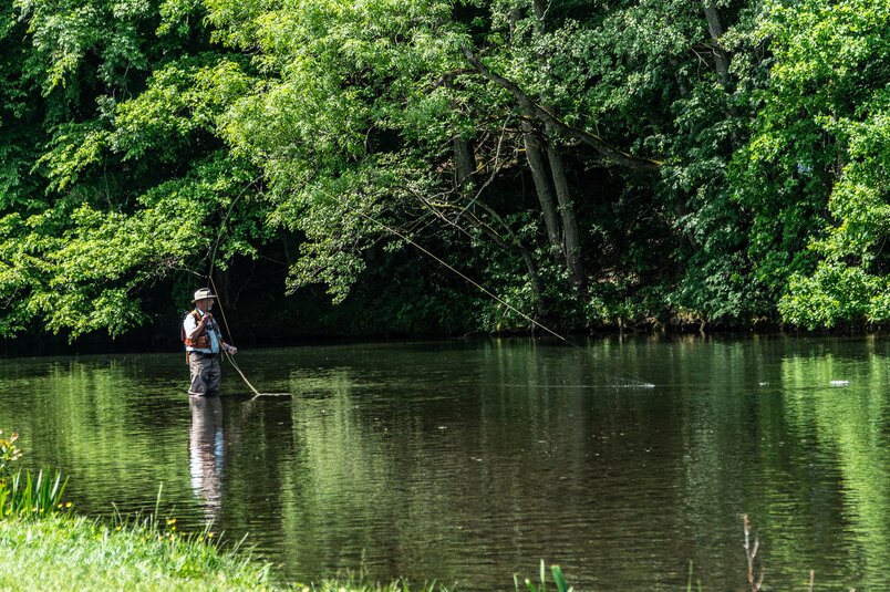
{"type": "Polygon", "coordinates": [[[206,273],[211,252],[225,267],[267,238],[256,174],[217,138],[245,77],[209,51],[199,4],[14,6],[7,17],[27,30],[7,28],[20,81],[3,85],[7,110],[30,94],[9,124],[22,157],[4,178],[32,175],[22,190],[10,180],[0,204],[0,331],[120,335],[145,320],[155,283],[206,273]]]}

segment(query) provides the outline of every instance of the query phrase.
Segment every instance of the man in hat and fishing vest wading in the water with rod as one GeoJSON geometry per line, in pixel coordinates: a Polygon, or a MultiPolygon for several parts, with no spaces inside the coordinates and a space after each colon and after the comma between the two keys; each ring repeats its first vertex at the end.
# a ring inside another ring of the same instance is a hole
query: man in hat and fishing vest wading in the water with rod
{"type": "Polygon", "coordinates": [[[183,341],[192,377],[188,394],[194,396],[219,394],[219,352],[238,353],[237,347],[222,340],[219,325],[210,314],[215,300],[216,295],[208,288],[201,288],[195,292],[195,310],[183,320],[183,341]]]}

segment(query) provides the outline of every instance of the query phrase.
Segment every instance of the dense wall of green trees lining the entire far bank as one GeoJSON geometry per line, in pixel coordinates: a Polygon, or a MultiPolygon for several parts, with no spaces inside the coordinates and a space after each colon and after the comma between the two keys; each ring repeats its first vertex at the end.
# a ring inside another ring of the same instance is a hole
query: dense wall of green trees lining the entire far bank
{"type": "Polygon", "coordinates": [[[882,323],[888,58],[875,0],[14,0],[0,334],[208,274],[257,334],[882,323]]]}

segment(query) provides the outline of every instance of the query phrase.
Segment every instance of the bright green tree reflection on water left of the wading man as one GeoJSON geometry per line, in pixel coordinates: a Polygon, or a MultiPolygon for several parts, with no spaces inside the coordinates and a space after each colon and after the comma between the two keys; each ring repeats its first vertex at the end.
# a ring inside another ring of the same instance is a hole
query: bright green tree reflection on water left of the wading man
{"type": "Polygon", "coordinates": [[[139,512],[155,505],[162,482],[165,499],[188,496],[185,478],[170,479],[170,467],[185,470],[182,356],[34,359],[4,367],[15,374],[10,380],[7,371],[0,384],[0,425],[21,434],[29,466],[76,475],[66,491],[81,511],[111,511],[111,500],[116,511],[139,512]],[[158,446],[159,437],[178,445],[158,446]]]}

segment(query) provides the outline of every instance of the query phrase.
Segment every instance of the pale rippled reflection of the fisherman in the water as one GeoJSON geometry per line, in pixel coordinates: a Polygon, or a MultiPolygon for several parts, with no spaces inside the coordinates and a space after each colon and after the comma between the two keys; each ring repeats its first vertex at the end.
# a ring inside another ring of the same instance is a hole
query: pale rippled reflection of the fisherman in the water
{"type": "Polygon", "coordinates": [[[192,490],[203,501],[207,520],[219,513],[222,478],[222,404],[219,397],[189,397],[192,432],[188,440],[188,468],[192,490]]]}

